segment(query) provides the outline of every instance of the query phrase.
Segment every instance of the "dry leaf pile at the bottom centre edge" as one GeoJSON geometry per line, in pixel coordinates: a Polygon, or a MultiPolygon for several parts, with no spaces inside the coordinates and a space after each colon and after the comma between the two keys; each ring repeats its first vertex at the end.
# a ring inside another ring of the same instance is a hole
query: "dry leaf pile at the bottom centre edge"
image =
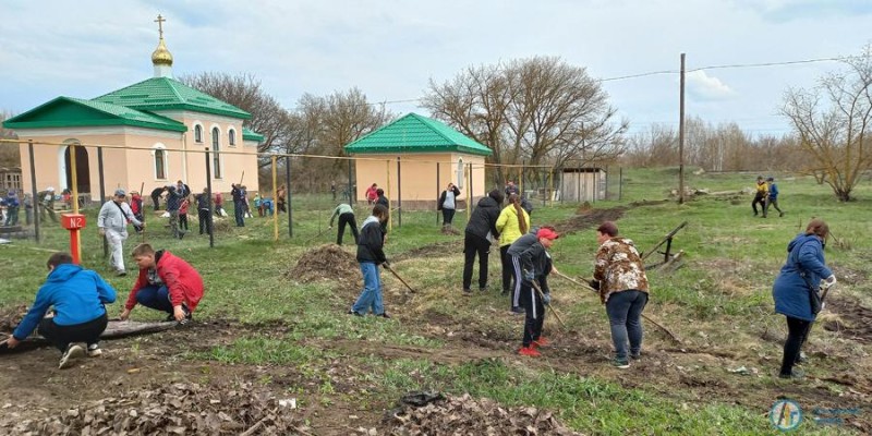
{"type": "Polygon", "coordinates": [[[501,408],[488,399],[413,393],[388,417],[389,435],[580,435],[536,408],[501,408]]]}

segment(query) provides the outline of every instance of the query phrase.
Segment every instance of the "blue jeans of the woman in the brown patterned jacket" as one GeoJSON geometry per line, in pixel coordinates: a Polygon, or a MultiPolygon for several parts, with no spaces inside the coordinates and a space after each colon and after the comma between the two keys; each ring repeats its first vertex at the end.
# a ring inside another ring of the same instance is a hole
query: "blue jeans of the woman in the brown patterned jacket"
{"type": "Polygon", "coordinates": [[[608,295],[606,314],[611,325],[611,342],[615,346],[615,358],[627,360],[627,341],[630,342],[630,354],[639,354],[642,350],[642,310],[647,304],[647,293],[629,290],[608,295]]]}

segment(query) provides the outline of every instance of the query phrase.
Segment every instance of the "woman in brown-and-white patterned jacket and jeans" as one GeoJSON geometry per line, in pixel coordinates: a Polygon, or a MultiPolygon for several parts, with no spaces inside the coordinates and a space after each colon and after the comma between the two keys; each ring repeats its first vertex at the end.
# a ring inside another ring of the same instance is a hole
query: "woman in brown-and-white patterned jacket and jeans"
{"type": "Polygon", "coordinates": [[[611,221],[596,229],[596,264],[591,286],[600,291],[606,305],[611,341],[615,346],[614,366],[630,366],[629,358],[639,359],[642,349],[642,311],[647,304],[649,283],[645,266],[633,242],[618,237],[618,227],[611,221]]]}

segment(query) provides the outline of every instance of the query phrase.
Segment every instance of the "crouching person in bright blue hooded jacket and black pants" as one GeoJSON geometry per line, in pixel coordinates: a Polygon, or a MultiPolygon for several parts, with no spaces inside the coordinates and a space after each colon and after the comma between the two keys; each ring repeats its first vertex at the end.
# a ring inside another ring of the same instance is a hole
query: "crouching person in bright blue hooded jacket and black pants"
{"type": "Polygon", "coordinates": [[[58,365],[63,370],[85,354],[85,349],[75,342],[86,343],[87,354],[93,358],[102,354],[99,338],[109,322],[104,304],[116,301],[116,290],[97,272],[74,265],[69,253],[52,254],[47,266],[46,283],[7,346],[17,347],[38,326],[39,335],[63,353],[58,365]],[[50,306],[55,307],[55,316],[46,318],[50,306]]]}

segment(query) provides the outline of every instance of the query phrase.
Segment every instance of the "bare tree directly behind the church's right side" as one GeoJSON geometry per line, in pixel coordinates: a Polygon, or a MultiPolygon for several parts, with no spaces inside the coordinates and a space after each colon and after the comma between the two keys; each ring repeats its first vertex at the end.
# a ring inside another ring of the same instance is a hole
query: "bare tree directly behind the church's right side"
{"type": "Polygon", "coordinates": [[[179,80],[187,86],[251,113],[251,120],[246,120],[244,125],[264,135],[258,152],[287,147],[290,114],[272,96],[264,92],[261,81],[254,75],[203,72],[179,80]]]}

